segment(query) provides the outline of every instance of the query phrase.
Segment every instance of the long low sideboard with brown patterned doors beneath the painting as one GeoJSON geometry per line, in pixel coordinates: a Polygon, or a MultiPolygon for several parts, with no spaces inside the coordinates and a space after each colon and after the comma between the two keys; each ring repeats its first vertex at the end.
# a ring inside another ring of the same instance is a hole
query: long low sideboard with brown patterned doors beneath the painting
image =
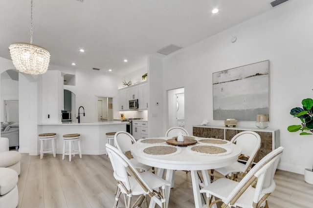
{"type": "Polygon", "coordinates": [[[254,159],[259,162],[265,155],[273,149],[279,147],[279,129],[260,129],[260,128],[242,128],[242,127],[224,127],[213,125],[194,125],[193,135],[196,137],[216,138],[230,141],[233,136],[242,131],[254,131],[261,137],[261,147],[254,159]]]}

